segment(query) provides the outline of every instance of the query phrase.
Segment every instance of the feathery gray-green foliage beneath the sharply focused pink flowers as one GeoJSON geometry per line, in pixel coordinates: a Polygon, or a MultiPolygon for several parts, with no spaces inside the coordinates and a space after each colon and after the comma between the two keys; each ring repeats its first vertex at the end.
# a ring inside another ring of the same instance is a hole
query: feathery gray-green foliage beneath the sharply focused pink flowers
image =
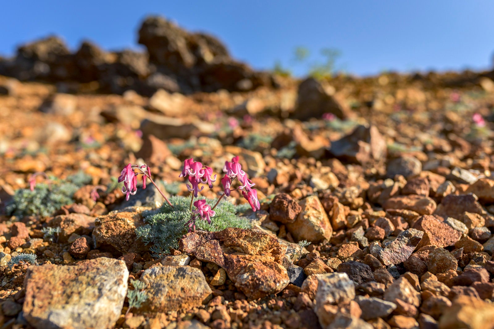
{"type": "MultiPolygon", "coordinates": [[[[196,199],[197,200],[197,199],[196,199]]],[[[207,203],[214,205],[216,200],[207,199],[207,203]]],[[[145,225],[136,229],[137,237],[144,243],[152,243],[150,250],[156,256],[169,252],[169,248],[178,247],[178,239],[187,232],[185,224],[191,218],[189,197],[170,197],[173,208],[164,203],[158,212],[150,213],[144,218],[145,225]]],[[[215,216],[211,218],[211,224],[198,219],[196,221],[197,230],[219,231],[226,228],[250,227],[249,221],[238,215],[245,206],[235,206],[228,200],[221,200],[214,209],[215,216]]]]}

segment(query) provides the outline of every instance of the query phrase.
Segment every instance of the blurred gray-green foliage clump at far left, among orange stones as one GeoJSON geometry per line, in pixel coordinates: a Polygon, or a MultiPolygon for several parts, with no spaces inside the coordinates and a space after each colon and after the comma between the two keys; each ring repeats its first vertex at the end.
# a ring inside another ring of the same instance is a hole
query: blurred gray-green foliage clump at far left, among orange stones
{"type": "Polygon", "coordinates": [[[90,180],[90,176],[80,172],[65,180],[50,177],[48,182],[37,184],[34,191],[19,189],[7,204],[6,213],[15,216],[50,216],[62,206],[73,203],[74,193],[90,180]]]}

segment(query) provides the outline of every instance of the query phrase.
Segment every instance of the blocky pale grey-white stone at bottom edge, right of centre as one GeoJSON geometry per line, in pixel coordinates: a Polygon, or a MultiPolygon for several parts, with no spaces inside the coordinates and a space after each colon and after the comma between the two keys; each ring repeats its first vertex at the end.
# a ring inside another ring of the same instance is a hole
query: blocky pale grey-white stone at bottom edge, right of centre
{"type": "Polygon", "coordinates": [[[339,304],[355,298],[355,284],[346,273],[327,273],[317,276],[316,313],[325,304],[339,304]]]}

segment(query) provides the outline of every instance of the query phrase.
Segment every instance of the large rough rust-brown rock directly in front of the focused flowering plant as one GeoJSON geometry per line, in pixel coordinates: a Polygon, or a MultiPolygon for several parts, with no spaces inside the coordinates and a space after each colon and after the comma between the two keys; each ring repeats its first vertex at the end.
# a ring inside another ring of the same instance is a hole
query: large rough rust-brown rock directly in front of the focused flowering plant
{"type": "Polygon", "coordinates": [[[283,290],[289,283],[281,264],[287,246],[266,233],[229,228],[189,233],[179,249],[223,267],[235,286],[255,299],[283,290]]]}

